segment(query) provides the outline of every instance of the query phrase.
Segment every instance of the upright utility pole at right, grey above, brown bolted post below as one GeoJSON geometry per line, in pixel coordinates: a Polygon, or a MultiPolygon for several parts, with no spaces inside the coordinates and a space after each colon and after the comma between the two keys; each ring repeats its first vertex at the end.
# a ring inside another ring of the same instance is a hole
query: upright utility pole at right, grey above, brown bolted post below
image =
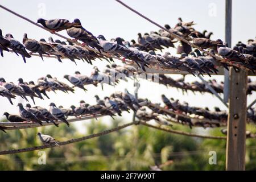
{"type": "MultiPolygon", "coordinates": [[[[232,0],[226,0],[225,40],[229,47],[231,47],[231,34],[232,0]]],[[[227,88],[229,88],[229,114],[226,142],[226,170],[241,171],[245,170],[247,71],[240,69],[239,72],[236,72],[233,68],[230,68],[227,88]]]]}

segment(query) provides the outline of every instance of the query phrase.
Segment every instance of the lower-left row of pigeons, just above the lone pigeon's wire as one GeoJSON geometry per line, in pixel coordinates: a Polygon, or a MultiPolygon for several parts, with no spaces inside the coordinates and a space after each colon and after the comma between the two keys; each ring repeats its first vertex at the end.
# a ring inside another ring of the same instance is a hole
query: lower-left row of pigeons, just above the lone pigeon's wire
{"type": "MultiPolygon", "coordinates": [[[[115,113],[122,116],[122,111],[130,113],[130,109],[137,111],[140,107],[147,104],[147,100],[135,98],[135,96],[125,89],[125,92],[116,92],[105,97],[101,100],[100,97],[95,95],[96,105],[86,104],[84,100],[80,101],[79,106],[72,105],[65,109],[63,106],[56,107],[54,103],[49,104],[49,110],[41,106],[31,107],[30,104],[26,104],[24,107],[21,103],[19,107],[19,115],[4,113],[7,120],[10,122],[35,122],[39,125],[43,125],[43,122],[52,122],[58,127],[56,121],[61,121],[69,126],[67,121],[68,117],[82,117],[87,115],[93,115],[97,118],[98,115],[109,115],[113,118],[115,113]]],[[[5,127],[0,128],[5,131],[5,127]]]]}

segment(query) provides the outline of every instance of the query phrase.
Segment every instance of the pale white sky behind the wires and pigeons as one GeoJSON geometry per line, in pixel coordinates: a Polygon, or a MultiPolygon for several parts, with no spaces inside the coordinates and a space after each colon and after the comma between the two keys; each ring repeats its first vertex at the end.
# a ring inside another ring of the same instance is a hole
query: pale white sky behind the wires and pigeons
{"type": "MultiPolygon", "coordinates": [[[[177,18],[181,17],[185,22],[194,20],[197,24],[194,26],[196,30],[203,31],[208,30],[213,32],[212,39],[225,39],[225,1],[223,0],[207,0],[207,1],[123,1],[127,5],[138,10],[140,13],[148,16],[152,20],[159,24],[170,24],[173,27],[177,23],[177,18]]],[[[1,5],[19,13],[27,18],[36,20],[38,18],[54,19],[64,18],[72,21],[75,18],[81,20],[82,26],[92,32],[94,35],[104,35],[106,39],[116,38],[118,36],[125,40],[135,39],[137,40],[138,32],[150,32],[152,30],[158,31],[159,28],[154,24],[147,22],[138,15],[134,14],[130,10],[126,9],[114,0],[94,0],[94,1],[11,1],[2,0],[1,5]]],[[[233,20],[232,20],[232,45],[238,41],[246,43],[247,39],[253,39],[256,35],[256,23],[255,23],[255,0],[233,1],[233,20]]],[[[7,33],[13,34],[15,39],[22,42],[23,34],[26,32],[28,38],[39,40],[40,38],[48,39],[52,36],[53,39],[61,39],[56,35],[34,26],[26,20],[20,19],[17,16],[10,14],[9,12],[0,9],[0,22],[3,35],[7,33]]],[[[68,36],[65,31],[59,32],[61,35],[68,36]]],[[[175,49],[166,49],[175,55],[175,49]]],[[[119,60],[115,63],[121,64],[119,60]]],[[[57,77],[59,80],[69,84],[67,80],[64,80],[64,75],[73,75],[75,71],[80,71],[84,75],[89,75],[94,65],[97,65],[100,70],[108,64],[106,61],[97,60],[93,62],[93,65],[82,63],[77,61],[77,65],[71,61],[65,59],[63,63],[59,63],[56,59],[45,58],[44,61],[40,57],[32,57],[27,59],[27,63],[24,64],[21,56],[16,56],[14,53],[4,52],[4,57],[0,57],[0,76],[4,77],[6,81],[13,81],[17,83],[18,78],[22,77],[24,81],[34,80],[37,78],[51,74],[57,77]]],[[[169,75],[172,78],[180,78],[180,75],[169,75]]],[[[223,76],[213,76],[218,81],[224,80],[223,76]]],[[[205,76],[205,79],[209,79],[209,76],[205,76]]],[[[256,80],[255,77],[251,77],[252,80],[256,80]]],[[[185,81],[191,82],[199,80],[197,77],[186,76],[185,81]]],[[[191,106],[208,106],[213,109],[214,106],[219,106],[221,109],[226,109],[225,106],[217,100],[212,94],[200,93],[182,94],[176,88],[166,88],[166,86],[158,85],[153,82],[141,80],[141,88],[138,95],[142,98],[148,98],[152,102],[161,102],[160,95],[166,94],[167,97],[174,97],[180,101],[187,101],[191,106]]],[[[71,84],[69,84],[71,85],[71,84]]],[[[101,98],[109,96],[109,94],[115,91],[123,91],[127,88],[130,92],[133,92],[133,81],[121,83],[115,87],[104,86],[104,91],[100,87],[86,86],[88,92],[84,92],[81,89],[76,89],[75,94],[65,94],[63,92],[57,92],[57,94],[51,92],[48,96],[51,98],[48,100],[35,99],[36,105],[49,108],[50,102],[55,104],[69,107],[71,105],[79,105],[80,100],[85,100],[89,104],[95,104],[94,95],[98,94],[101,98]]],[[[256,97],[254,93],[248,96],[248,104],[256,97]]],[[[17,98],[13,100],[14,105],[11,105],[6,98],[0,97],[0,115],[1,113],[8,111],[12,114],[18,113],[18,102],[25,102],[17,98]]],[[[32,104],[32,102],[30,103],[32,104]]],[[[33,105],[33,104],[32,104],[33,105]]],[[[124,114],[123,118],[126,121],[130,121],[131,114],[124,114]]],[[[0,118],[1,119],[1,118],[0,118]]],[[[109,118],[106,118],[108,121],[109,118]]],[[[75,125],[80,126],[80,123],[75,125]]]]}

